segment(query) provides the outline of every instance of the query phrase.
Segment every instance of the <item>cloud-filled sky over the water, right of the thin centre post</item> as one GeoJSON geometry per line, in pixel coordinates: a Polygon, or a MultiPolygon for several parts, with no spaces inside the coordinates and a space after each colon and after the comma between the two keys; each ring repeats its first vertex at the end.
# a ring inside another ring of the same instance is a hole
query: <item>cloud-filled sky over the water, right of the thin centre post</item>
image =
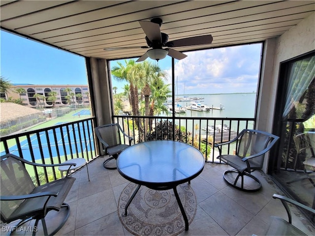
{"type": "Polygon", "coordinates": [[[179,93],[252,92],[259,74],[261,44],[187,52],[176,61],[179,93]]]}

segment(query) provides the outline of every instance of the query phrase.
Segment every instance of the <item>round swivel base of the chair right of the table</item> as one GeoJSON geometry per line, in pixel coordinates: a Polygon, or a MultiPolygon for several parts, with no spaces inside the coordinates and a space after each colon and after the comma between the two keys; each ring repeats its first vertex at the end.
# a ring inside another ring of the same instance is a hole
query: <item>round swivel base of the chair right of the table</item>
{"type": "Polygon", "coordinates": [[[237,170],[227,170],[227,171],[224,172],[223,178],[224,178],[224,180],[225,180],[225,182],[227,184],[233,186],[234,188],[242,190],[242,191],[256,192],[256,191],[258,191],[261,188],[261,183],[260,183],[259,179],[254,177],[254,176],[252,176],[249,173],[246,173],[246,172],[245,173],[240,173],[237,170]],[[227,177],[226,176],[229,173],[237,173],[237,177],[235,177],[235,179],[231,179],[231,177],[227,177]],[[257,187],[255,187],[255,188],[246,188],[246,187],[244,187],[244,176],[250,177],[253,180],[255,180],[255,182],[257,183],[257,187]],[[237,185],[237,183],[239,182],[238,181],[239,178],[241,178],[241,187],[237,185]]]}

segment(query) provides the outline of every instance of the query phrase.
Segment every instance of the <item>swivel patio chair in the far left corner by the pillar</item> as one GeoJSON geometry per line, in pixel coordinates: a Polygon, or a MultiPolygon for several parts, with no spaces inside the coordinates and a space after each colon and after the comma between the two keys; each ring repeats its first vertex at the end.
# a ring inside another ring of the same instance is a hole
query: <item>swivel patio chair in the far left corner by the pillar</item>
{"type": "Polygon", "coordinates": [[[95,133],[98,140],[101,142],[103,151],[105,155],[109,155],[109,158],[105,159],[103,162],[103,167],[105,169],[114,170],[116,167],[109,167],[106,164],[112,160],[116,159],[118,155],[131,146],[132,137],[128,136],[120,127],[118,123],[116,124],[105,124],[95,128],[95,133]],[[128,138],[129,145],[122,143],[122,138],[128,138]]]}

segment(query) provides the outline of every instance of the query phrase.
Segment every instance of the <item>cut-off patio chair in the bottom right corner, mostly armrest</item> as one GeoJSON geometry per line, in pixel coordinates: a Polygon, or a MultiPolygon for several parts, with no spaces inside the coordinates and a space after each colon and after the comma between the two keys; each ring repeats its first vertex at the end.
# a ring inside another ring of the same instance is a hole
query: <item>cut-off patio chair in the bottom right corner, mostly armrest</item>
{"type": "Polygon", "coordinates": [[[278,216],[271,216],[266,235],[267,236],[275,236],[275,235],[296,235],[296,236],[305,235],[306,236],[307,234],[305,234],[304,232],[296,228],[294,225],[292,225],[291,211],[287,203],[293,204],[297,207],[301,207],[305,210],[312,212],[313,214],[315,214],[315,209],[311,207],[307,207],[301,203],[298,203],[292,199],[289,199],[287,197],[284,197],[278,194],[274,194],[273,198],[280,199],[280,201],[284,205],[284,208],[287,213],[288,221],[278,216]]]}

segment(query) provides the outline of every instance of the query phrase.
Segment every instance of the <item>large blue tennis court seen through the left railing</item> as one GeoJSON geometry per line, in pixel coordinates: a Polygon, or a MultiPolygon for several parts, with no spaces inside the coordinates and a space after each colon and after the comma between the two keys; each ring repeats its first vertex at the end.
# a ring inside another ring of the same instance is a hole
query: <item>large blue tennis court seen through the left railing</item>
{"type": "MultiPolygon", "coordinates": [[[[87,110],[89,111],[89,110],[87,110]]],[[[90,112],[90,111],[89,111],[90,112]]],[[[80,112],[81,113],[81,112],[80,112]]],[[[60,125],[66,122],[58,122],[55,125],[60,125]]],[[[46,132],[39,133],[39,140],[37,135],[31,135],[31,146],[34,153],[35,160],[41,159],[40,146],[43,150],[44,158],[49,158],[50,153],[52,157],[71,155],[72,153],[81,153],[86,151],[94,151],[94,137],[92,134],[92,122],[88,124],[76,123],[65,125],[61,128],[50,129],[46,132]],[[91,140],[91,144],[90,144],[91,140]],[[64,145],[63,145],[64,144],[64,145]],[[92,148],[92,149],[91,149],[92,148]],[[72,151],[71,151],[72,150],[72,151]]],[[[21,150],[23,157],[26,160],[31,161],[31,152],[27,137],[20,138],[21,150]]],[[[11,145],[9,147],[9,152],[19,156],[17,144],[11,145]]],[[[4,155],[5,151],[1,151],[0,155],[4,155]]],[[[80,156],[81,157],[81,156],[80,156]]]]}

